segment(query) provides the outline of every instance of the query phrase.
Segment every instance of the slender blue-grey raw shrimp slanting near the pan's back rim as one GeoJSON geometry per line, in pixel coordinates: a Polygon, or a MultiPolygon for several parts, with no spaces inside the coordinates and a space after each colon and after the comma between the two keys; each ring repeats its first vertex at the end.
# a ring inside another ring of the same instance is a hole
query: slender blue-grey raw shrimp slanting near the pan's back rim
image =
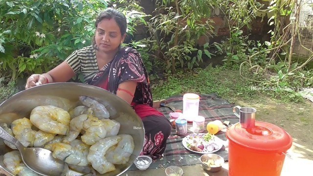
{"type": "Polygon", "coordinates": [[[103,104],[99,103],[98,101],[95,101],[87,96],[80,96],[79,100],[83,105],[92,108],[94,116],[98,117],[99,119],[110,117],[110,112],[103,104]]]}

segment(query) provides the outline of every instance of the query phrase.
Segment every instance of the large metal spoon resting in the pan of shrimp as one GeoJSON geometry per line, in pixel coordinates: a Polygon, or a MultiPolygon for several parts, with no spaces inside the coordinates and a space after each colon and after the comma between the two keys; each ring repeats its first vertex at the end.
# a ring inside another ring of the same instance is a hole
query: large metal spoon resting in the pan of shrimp
{"type": "Polygon", "coordinates": [[[64,176],[68,172],[67,163],[52,156],[52,152],[43,148],[26,148],[20,141],[0,127],[0,138],[15,145],[22,155],[25,165],[43,176],[64,176]]]}

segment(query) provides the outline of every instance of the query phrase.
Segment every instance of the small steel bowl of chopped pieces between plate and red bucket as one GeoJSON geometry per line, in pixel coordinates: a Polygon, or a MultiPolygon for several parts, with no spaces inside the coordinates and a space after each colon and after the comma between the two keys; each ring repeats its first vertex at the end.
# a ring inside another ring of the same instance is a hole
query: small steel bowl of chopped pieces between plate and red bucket
{"type": "Polygon", "coordinates": [[[202,154],[202,156],[200,157],[200,161],[201,161],[201,165],[203,167],[203,169],[209,171],[209,172],[218,172],[222,169],[222,166],[224,164],[224,158],[220,155],[217,154],[202,154]],[[207,162],[207,160],[209,159],[214,159],[215,164],[219,165],[218,167],[212,167],[209,166],[207,164],[205,164],[205,162],[207,162]]]}

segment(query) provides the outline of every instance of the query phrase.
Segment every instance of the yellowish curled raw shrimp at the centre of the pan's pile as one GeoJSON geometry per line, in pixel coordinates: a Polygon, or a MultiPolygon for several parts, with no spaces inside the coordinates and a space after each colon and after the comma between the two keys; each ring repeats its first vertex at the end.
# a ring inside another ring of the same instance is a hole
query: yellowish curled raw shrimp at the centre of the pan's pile
{"type": "Polygon", "coordinates": [[[73,118],[69,127],[70,130],[64,137],[64,143],[69,143],[76,139],[83,130],[85,133],[81,136],[81,139],[88,145],[93,145],[98,140],[105,138],[107,134],[104,123],[97,117],[87,114],[73,118]]]}

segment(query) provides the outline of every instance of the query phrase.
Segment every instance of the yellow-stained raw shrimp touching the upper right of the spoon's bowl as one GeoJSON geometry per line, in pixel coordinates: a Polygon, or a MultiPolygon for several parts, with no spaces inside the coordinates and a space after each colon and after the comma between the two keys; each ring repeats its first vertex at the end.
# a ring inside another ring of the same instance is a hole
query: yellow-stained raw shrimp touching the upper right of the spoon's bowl
{"type": "Polygon", "coordinates": [[[70,145],[61,142],[52,144],[52,156],[77,166],[88,166],[89,145],[80,140],[73,140],[70,145]]]}

